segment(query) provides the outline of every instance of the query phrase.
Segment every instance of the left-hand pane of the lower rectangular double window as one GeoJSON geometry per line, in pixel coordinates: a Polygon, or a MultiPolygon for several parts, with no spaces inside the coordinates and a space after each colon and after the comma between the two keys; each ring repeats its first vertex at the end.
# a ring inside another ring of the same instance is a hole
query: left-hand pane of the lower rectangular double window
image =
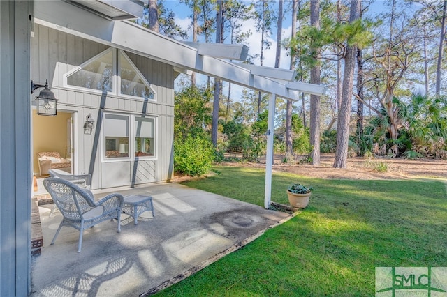
{"type": "Polygon", "coordinates": [[[105,158],[129,157],[129,116],[105,114],[105,158]]]}

